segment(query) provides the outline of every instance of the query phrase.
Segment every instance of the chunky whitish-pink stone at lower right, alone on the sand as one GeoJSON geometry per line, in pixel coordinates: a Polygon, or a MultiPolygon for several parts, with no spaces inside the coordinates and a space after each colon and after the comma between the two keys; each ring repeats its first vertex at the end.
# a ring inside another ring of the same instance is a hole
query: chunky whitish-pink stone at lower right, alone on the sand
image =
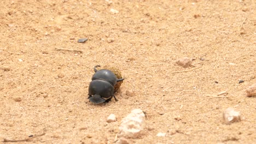
{"type": "Polygon", "coordinates": [[[234,109],[229,107],[228,109],[226,109],[223,112],[223,120],[224,120],[225,124],[231,124],[231,123],[234,123],[234,122],[240,122],[241,121],[240,112],[235,111],[234,109]]]}

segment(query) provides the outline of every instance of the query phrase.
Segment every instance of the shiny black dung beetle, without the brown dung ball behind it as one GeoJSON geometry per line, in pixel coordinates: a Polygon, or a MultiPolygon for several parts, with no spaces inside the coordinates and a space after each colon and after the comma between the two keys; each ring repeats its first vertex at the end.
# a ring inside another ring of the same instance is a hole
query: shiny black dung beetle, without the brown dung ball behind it
{"type": "Polygon", "coordinates": [[[115,101],[118,101],[114,95],[114,86],[118,81],[124,79],[117,79],[115,74],[107,69],[97,70],[96,65],[94,67],[95,74],[92,76],[92,81],[89,85],[89,97],[88,99],[94,104],[108,103],[114,97],[115,101]]]}

